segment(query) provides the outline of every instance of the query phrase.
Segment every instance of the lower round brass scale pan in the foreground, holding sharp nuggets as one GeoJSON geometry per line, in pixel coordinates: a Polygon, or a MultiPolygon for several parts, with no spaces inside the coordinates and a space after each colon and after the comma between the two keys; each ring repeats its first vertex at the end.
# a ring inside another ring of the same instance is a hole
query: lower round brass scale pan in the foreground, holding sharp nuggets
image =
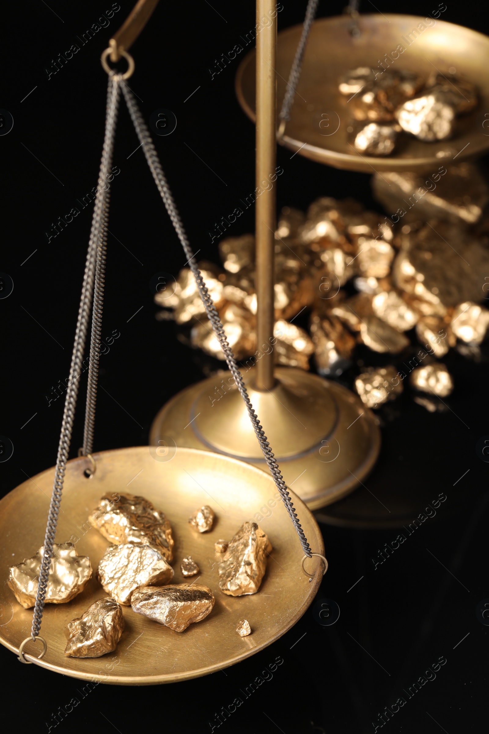
{"type": "MultiPolygon", "coordinates": [[[[48,643],[45,657],[37,661],[40,644],[27,643],[29,661],[63,675],[119,685],[151,685],[207,675],[238,663],[279,639],[304,614],[322,579],[322,562],[313,558],[301,571],[303,552],[282,501],[276,501],[271,476],[228,457],[177,448],[167,454],[161,448],[137,446],[94,454],[97,470],[84,476],[86,457],[67,463],[65,487],[56,542],[71,540],[80,555],[89,556],[94,574],[81,594],[66,604],[46,604],[40,634],[48,643]],[[157,453],[158,452],[158,453],[157,453]],[[163,454],[163,455],[158,455],[163,454]],[[68,658],[64,654],[67,623],[100,597],[106,596],[95,579],[95,569],[109,545],[92,528],[87,517],[105,493],[143,495],[163,510],[173,531],[174,581],[188,583],[180,573],[183,556],[191,555],[200,568],[199,584],[212,589],[213,611],[183,633],[150,621],[123,607],[125,630],[114,653],[100,658],[68,658]],[[209,504],[216,512],[213,529],[197,533],[188,517],[209,504]],[[259,519],[262,518],[262,519],[259,519]],[[254,595],[229,597],[218,588],[218,556],[214,543],[230,539],[245,520],[260,523],[273,551],[265,578],[254,595]],[[236,633],[240,619],[248,619],[252,633],[236,633]],[[32,653],[32,656],[29,654],[32,653]]],[[[0,501],[0,642],[12,652],[30,635],[32,609],[17,603],[7,586],[8,569],[29,558],[43,545],[54,468],[12,490],[0,501]],[[4,621],[5,620],[5,621],[4,621]]],[[[290,492],[312,551],[324,553],[320,529],[306,505],[290,492]]]]}

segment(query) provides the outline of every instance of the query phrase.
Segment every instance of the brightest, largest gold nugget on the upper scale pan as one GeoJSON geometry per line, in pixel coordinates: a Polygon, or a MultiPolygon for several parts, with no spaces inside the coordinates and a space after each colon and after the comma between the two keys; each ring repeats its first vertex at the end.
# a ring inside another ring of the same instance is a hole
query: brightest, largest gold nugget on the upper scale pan
{"type": "Polygon", "coordinates": [[[396,110],[395,117],[402,130],[419,140],[446,140],[452,137],[455,129],[455,108],[450,99],[442,90],[428,90],[405,101],[396,110]]]}

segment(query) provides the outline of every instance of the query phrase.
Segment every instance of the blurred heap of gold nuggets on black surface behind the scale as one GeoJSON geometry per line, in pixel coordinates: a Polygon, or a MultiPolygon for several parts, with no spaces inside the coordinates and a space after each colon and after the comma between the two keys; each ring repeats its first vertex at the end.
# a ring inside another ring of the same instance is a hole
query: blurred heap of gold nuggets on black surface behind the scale
{"type": "MultiPolygon", "coordinates": [[[[199,266],[243,371],[271,351],[277,364],[303,369],[313,356],[329,377],[356,363],[353,384],[368,407],[395,399],[409,377],[416,402],[443,410],[454,382],[439,360],[452,348],[477,359],[489,324],[488,184],[475,164],[460,163],[430,175],[383,172],[372,189],[388,217],[331,197],[306,214],[282,210],[270,344],[257,344],[254,237],[222,240],[222,268],[199,266]],[[293,322],[300,315],[304,324],[308,310],[306,330],[293,322]],[[359,344],[370,350],[361,360],[359,344]]],[[[157,318],[189,324],[191,346],[224,360],[190,269],[155,301],[166,307],[157,318]]]]}

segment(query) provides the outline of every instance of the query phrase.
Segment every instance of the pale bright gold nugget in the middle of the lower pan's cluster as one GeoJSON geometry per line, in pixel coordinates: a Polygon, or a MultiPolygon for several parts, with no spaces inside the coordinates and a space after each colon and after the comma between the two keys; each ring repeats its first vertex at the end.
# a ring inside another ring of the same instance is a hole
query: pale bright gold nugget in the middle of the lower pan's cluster
{"type": "Polygon", "coordinates": [[[97,578],[105,591],[120,604],[130,605],[138,586],[163,586],[173,578],[173,569],[150,545],[109,545],[98,564],[97,578]]]}

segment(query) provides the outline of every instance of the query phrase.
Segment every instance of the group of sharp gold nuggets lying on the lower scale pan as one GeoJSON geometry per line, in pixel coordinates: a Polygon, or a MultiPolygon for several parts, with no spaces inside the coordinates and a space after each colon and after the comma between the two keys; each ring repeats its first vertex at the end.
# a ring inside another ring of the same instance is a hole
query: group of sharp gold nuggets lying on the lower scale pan
{"type": "MultiPolygon", "coordinates": [[[[214,520],[210,506],[199,507],[188,520],[189,532],[210,533],[214,520]]],[[[213,610],[216,598],[208,586],[172,584],[172,527],[150,501],[128,493],[105,495],[89,515],[89,523],[110,542],[95,574],[107,596],[68,623],[65,655],[98,658],[113,652],[124,631],[124,606],[175,632],[185,631],[213,610]]],[[[221,592],[233,597],[256,594],[272,550],[257,523],[247,521],[229,542],[210,539],[209,546],[218,558],[216,582],[221,592]]],[[[8,585],[26,609],[35,603],[43,553],[40,548],[32,558],[10,567],[8,585]]],[[[191,556],[184,556],[180,571],[184,577],[194,576],[199,566],[191,556]]],[[[70,602],[84,591],[90,578],[88,556],[79,556],[71,542],[55,543],[45,602],[70,602]]],[[[239,619],[236,632],[241,637],[251,634],[249,621],[239,619]]]]}

